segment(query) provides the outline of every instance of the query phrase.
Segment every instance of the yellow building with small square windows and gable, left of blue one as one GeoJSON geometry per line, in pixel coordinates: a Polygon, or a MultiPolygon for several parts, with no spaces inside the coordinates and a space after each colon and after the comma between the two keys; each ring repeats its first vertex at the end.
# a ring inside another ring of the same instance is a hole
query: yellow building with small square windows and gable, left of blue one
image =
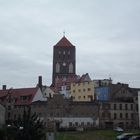
{"type": "Polygon", "coordinates": [[[71,83],[73,101],[94,100],[94,84],[88,74],[83,75],[77,82],[71,83]]]}

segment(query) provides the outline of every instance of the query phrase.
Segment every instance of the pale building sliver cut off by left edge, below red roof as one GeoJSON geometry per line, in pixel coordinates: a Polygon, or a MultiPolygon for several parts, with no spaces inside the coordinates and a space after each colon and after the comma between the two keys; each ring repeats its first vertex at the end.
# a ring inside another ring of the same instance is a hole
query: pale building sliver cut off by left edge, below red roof
{"type": "Polygon", "coordinates": [[[5,107],[0,104],[0,128],[5,124],[5,107]]]}

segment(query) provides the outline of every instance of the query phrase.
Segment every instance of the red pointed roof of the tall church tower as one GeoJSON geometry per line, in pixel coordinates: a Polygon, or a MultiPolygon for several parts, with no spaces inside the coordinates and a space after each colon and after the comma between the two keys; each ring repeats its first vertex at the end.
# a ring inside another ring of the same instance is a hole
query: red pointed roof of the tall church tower
{"type": "Polygon", "coordinates": [[[63,36],[60,39],[60,41],[58,41],[58,43],[55,46],[59,46],[59,47],[73,47],[71,42],[65,36],[63,36]]]}

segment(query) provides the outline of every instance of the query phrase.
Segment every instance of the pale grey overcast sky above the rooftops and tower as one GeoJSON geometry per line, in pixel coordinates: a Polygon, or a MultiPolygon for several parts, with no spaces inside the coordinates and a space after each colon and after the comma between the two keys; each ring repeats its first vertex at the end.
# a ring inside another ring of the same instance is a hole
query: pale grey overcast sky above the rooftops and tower
{"type": "Polygon", "coordinates": [[[0,85],[49,86],[64,30],[78,75],[140,87],[140,0],[0,0],[0,85]]]}

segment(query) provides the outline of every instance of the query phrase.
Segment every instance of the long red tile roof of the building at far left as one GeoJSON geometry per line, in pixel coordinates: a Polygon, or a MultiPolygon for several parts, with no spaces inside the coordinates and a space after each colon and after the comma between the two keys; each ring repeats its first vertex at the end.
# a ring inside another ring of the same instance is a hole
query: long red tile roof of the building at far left
{"type": "Polygon", "coordinates": [[[38,87],[33,88],[20,88],[20,89],[7,89],[0,90],[0,97],[4,97],[8,94],[11,94],[12,97],[16,99],[15,105],[25,105],[30,104],[33,100],[33,97],[38,91],[38,87]],[[28,97],[28,99],[23,100],[21,97],[28,97]]]}

